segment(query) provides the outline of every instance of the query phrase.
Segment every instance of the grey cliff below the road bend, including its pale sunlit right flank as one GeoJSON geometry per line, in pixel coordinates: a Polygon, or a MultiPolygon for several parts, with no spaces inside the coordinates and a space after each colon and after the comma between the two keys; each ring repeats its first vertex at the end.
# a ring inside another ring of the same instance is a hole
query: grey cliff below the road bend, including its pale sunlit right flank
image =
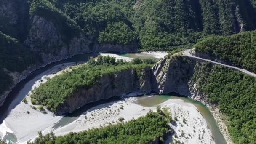
{"type": "Polygon", "coordinates": [[[152,67],[152,88],[159,94],[175,92],[207,104],[207,95],[197,85],[201,66],[201,61],[186,56],[165,57],[152,67]]]}

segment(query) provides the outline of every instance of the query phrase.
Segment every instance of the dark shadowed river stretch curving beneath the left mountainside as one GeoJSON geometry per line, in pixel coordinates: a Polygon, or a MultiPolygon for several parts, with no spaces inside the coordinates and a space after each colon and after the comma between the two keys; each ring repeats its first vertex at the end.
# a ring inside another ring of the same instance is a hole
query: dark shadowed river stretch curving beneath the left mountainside
{"type": "Polygon", "coordinates": [[[44,72],[49,71],[51,68],[59,64],[86,62],[91,56],[96,57],[97,55],[98,53],[75,55],[68,59],[47,64],[46,66],[31,72],[24,80],[21,80],[18,84],[15,85],[12,91],[8,94],[3,106],[0,107],[0,124],[3,123],[3,120],[8,116],[9,112],[11,112],[11,110],[14,109],[16,105],[18,105],[22,101],[22,99],[29,93],[34,83],[37,80],[41,79],[44,72]]]}

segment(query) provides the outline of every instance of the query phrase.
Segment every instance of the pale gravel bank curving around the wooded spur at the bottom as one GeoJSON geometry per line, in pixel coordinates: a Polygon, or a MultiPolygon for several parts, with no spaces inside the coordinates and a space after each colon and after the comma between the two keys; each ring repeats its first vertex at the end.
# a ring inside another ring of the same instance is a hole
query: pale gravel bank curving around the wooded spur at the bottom
{"type": "MultiPolygon", "coordinates": [[[[53,132],[57,136],[62,136],[70,131],[79,132],[91,128],[101,128],[106,125],[119,123],[121,119],[124,122],[133,118],[136,119],[146,115],[149,110],[156,111],[156,106],[144,107],[136,104],[137,100],[136,97],[130,97],[98,105],[88,109],[77,120],[53,132]]],[[[179,99],[169,99],[160,105],[171,110],[174,122],[170,126],[176,133],[172,137],[173,141],[214,144],[211,131],[204,117],[193,104],[179,99]]],[[[43,131],[44,134],[49,132],[48,130],[43,131]]]]}

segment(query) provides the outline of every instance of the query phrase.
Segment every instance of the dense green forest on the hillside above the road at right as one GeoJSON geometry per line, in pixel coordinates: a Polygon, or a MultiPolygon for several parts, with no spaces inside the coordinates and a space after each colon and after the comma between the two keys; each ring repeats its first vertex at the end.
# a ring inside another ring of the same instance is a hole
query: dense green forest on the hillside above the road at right
{"type": "Polygon", "coordinates": [[[231,61],[236,67],[256,73],[256,31],[210,36],[193,47],[196,51],[231,61]]]}

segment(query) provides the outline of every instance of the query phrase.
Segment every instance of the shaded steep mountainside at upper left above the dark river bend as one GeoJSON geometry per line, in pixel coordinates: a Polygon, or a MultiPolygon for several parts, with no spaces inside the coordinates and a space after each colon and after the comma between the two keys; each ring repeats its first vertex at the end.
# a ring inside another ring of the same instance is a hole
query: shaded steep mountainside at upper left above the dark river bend
{"type": "Polygon", "coordinates": [[[0,86],[0,105],[16,83],[42,65],[92,51],[122,53],[137,50],[136,43],[99,45],[94,36],[85,35],[74,20],[46,0],[3,0],[0,2],[0,20],[3,39],[0,72],[2,82],[7,82],[0,86]],[[19,59],[11,59],[12,55],[19,59]],[[19,65],[20,62],[23,64],[19,65]]]}

